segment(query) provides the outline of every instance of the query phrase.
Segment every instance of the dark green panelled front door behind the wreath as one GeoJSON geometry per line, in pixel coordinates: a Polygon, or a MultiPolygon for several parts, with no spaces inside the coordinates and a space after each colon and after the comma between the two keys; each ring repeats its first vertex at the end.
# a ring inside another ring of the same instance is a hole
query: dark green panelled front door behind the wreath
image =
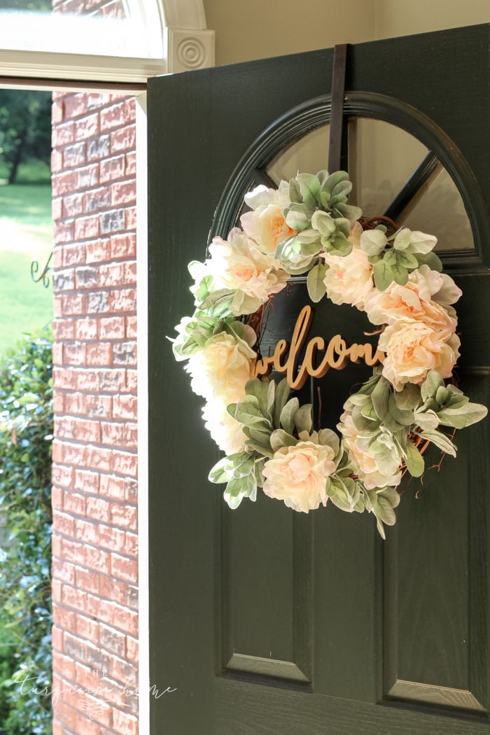
{"type": "MultiPolygon", "coordinates": [[[[395,218],[439,227],[444,268],[464,292],[458,379],[483,404],[489,36],[474,26],[354,46],[345,102],[351,178],[361,154],[378,171],[375,193],[358,182],[359,204],[387,192],[395,218]],[[400,196],[386,183],[398,164],[385,129],[402,136],[395,153],[416,151],[400,196]]],[[[165,339],[192,313],[187,263],[204,259],[210,228],[225,237],[264,176],[325,168],[332,59],[326,49],[148,88],[151,685],[169,688],[152,689],[152,735],[490,733],[489,420],[458,432],[457,459],[403,486],[386,542],[372,516],[330,503],[295,514],[261,495],[231,511],[206,479],[218,455],[165,339]]],[[[284,329],[295,309],[278,309],[284,329]]],[[[325,307],[319,328],[364,341],[343,309],[325,307]]],[[[357,369],[323,379],[324,426],[364,379],[357,369]]]]}

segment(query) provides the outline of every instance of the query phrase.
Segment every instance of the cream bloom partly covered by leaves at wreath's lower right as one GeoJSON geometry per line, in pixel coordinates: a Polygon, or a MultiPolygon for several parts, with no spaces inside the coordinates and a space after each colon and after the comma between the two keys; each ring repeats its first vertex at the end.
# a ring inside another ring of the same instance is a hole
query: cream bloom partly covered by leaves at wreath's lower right
{"type": "MultiPolygon", "coordinates": [[[[367,490],[374,490],[376,487],[396,487],[400,484],[402,473],[400,470],[400,455],[397,448],[389,447],[392,450],[391,458],[387,465],[381,471],[376,463],[376,457],[368,451],[364,451],[359,446],[361,437],[359,430],[353,423],[350,412],[345,411],[340,417],[341,423],[337,424],[337,429],[342,434],[343,445],[345,450],[350,454],[356,475],[364,484],[367,490]]],[[[386,435],[386,440],[390,441],[391,437],[386,435]]]]}

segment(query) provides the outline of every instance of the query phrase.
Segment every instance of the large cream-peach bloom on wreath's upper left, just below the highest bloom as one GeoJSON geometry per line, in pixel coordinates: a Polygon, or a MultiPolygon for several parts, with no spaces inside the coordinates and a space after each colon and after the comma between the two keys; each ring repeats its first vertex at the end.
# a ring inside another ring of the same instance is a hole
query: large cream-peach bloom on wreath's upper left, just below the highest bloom
{"type": "Polygon", "coordinates": [[[206,261],[215,289],[236,291],[231,303],[234,315],[252,314],[270,295],[281,291],[289,274],[281,263],[259,251],[253,240],[238,227],[228,241],[215,237],[209,245],[211,259],[206,261]]]}

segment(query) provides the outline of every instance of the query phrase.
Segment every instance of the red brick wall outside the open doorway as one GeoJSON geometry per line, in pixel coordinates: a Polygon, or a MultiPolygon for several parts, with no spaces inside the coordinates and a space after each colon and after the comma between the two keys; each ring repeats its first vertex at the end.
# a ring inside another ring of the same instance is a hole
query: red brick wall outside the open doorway
{"type": "Polygon", "coordinates": [[[138,731],[134,115],[54,95],[54,735],[138,731]]]}

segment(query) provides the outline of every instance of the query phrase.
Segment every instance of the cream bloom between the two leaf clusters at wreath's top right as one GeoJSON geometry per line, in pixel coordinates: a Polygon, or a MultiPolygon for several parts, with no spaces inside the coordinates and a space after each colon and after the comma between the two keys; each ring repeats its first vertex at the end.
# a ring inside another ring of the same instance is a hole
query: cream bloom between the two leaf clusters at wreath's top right
{"type": "Polygon", "coordinates": [[[323,282],[328,298],[334,304],[350,304],[359,311],[364,311],[364,302],[374,284],[372,265],[359,244],[361,232],[359,222],[354,223],[349,235],[349,241],[353,245],[350,254],[344,257],[325,254],[328,270],[323,282]]]}

